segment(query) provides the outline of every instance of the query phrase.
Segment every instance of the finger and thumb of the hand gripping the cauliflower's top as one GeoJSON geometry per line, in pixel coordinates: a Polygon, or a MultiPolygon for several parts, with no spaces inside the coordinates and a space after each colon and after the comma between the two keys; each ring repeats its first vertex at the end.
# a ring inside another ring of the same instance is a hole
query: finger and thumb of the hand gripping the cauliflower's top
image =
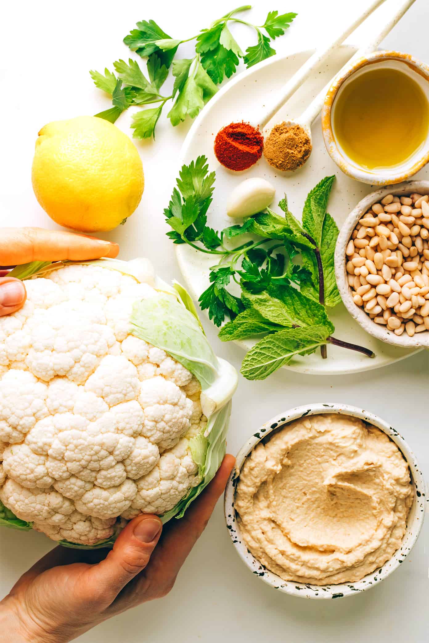
{"type": "MultiPolygon", "coordinates": [[[[110,241],[60,230],[0,228],[0,266],[30,261],[88,260],[116,257],[119,246],[110,241]]],[[[0,270],[0,316],[18,311],[25,303],[23,282],[0,270]]]]}

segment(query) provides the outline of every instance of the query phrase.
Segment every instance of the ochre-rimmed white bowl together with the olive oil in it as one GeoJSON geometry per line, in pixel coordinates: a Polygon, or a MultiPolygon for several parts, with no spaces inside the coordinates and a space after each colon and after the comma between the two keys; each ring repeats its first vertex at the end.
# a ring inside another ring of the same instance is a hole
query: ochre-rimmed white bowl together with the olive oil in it
{"type": "Polygon", "coordinates": [[[348,176],[387,185],[429,161],[429,67],[376,51],[330,87],[322,111],[326,148],[348,176]]]}

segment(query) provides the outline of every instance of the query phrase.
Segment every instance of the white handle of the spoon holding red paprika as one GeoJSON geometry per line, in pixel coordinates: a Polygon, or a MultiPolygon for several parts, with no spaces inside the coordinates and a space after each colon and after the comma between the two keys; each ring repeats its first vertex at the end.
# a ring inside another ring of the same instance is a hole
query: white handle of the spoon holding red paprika
{"type": "Polygon", "coordinates": [[[372,3],[370,6],[361,14],[352,24],[350,24],[347,29],[340,33],[338,37],[332,42],[330,41],[327,46],[320,47],[316,49],[315,53],[313,53],[312,56],[309,57],[309,59],[304,62],[304,65],[298,69],[297,73],[293,75],[293,77],[288,80],[288,82],[280,89],[280,92],[275,98],[275,101],[273,103],[270,103],[266,109],[260,113],[259,119],[257,122],[254,122],[253,125],[256,127],[260,127],[262,129],[265,127],[265,125],[268,123],[268,121],[274,116],[274,114],[286,103],[287,100],[297,91],[298,87],[302,85],[302,83],[307,80],[311,72],[322,62],[324,62],[325,59],[329,56],[329,54],[336,50],[342,42],[345,41],[349,35],[354,32],[354,30],[361,24],[363,21],[370,15],[376,8],[381,5],[385,0],[372,0],[372,3]]]}

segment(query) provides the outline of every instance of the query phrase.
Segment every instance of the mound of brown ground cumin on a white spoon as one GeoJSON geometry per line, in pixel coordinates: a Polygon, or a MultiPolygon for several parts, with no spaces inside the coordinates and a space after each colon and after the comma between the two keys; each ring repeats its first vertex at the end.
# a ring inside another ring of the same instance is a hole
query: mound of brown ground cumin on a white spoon
{"type": "Polygon", "coordinates": [[[297,170],[311,154],[311,140],[300,125],[278,123],[264,145],[264,156],[277,170],[297,170]]]}

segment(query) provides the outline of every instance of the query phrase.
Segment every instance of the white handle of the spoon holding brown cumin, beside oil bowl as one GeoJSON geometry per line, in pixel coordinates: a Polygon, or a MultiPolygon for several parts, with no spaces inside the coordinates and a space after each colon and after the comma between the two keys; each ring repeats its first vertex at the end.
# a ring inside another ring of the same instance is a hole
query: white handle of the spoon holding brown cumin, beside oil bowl
{"type": "Polygon", "coordinates": [[[329,80],[329,82],[325,85],[325,87],[318,93],[318,95],[313,98],[309,106],[306,108],[306,110],[301,114],[301,116],[297,119],[297,123],[302,125],[302,127],[309,129],[311,128],[311,124],[313,121],[317,118],[317,116],[320,114],[320,111],[322,111],[322,107],[325,102],[325,97],[327,95],[327,92],[329,91],[329,88],[331,85],[335,82],[335,79],[338,78],[339,76],[342,76],[347,69],[351,68],[354,66],[357,60],[360,60],[361,58],[367,56],[371,51],[376,50],[378,48],[379,44],[381,41],[385,39],[388,33],[392,31],[394,26],[399,22],[401,17],[408,11],[411,5],[414,5],[415,0],[405,0],[405,2],[401,5],[401,7],[397,10],[397,12],[392,16],[390,21],[385,24],[383,27],[383,30],[378,33],[378,35],[374,36],[372,35],[367,42],[365,42],[361,48],[356,51],[356,53],[351,57],[350,60],[348,60],[345,65],[336,73],[334,78],[329,80]]]}

